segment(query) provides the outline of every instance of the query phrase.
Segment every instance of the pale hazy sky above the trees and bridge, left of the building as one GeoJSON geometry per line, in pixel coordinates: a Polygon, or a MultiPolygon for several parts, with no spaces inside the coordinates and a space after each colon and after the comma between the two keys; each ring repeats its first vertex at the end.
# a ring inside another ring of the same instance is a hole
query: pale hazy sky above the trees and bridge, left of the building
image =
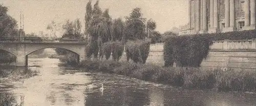
{"type": "MultiPolygon", "coordinates": [[[[47,25],[55,20],[63,22],[67,19],[79,18],[84,29],[84,15],[89,0],[0,0],[0,4],[8,7],[8,14],[17,20],[20,26],[20,11],[24,14],[24,30],[26,33],[47,32],[47,25]]],[[[92,6],[96,0],[92,0],[92,6]]],[[[104,11],[109,9],[112,18],[129,16],[132,9],[139,7],[143,17],[156,21],[156,31],[163,33],[173,26],[188,22],[187,0],[100,0],[99,6],[104,11]]]]}

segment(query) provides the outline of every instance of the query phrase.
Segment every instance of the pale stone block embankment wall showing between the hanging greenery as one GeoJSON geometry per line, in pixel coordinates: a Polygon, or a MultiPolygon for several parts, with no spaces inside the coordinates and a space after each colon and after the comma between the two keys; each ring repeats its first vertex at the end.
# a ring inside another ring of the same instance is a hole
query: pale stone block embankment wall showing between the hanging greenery
{"type": "MultiPolygon", "coordinates": [[[[125,51],[121,61],[126,61],[125,51]]],[[[146,63],[164,65],[163,43],[151,44],[146,63]]],[[[214,41],[201,66],[256,70],[256,40],[214,41]]]]}

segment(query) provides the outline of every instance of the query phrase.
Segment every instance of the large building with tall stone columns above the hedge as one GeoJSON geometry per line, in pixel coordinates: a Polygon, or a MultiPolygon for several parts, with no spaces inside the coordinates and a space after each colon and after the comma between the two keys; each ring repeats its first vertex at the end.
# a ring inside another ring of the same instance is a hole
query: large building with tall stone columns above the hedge
{"type": "Polygon", "coordinates": [[[189,22],[179,35],[255,29],[255,0],[188,0],[189,22]]]}

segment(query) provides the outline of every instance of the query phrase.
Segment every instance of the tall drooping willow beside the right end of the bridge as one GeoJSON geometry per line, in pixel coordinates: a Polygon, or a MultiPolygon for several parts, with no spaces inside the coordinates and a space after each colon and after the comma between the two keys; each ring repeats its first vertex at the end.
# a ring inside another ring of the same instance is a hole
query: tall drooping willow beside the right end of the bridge
{"type": "MultiPolygon", "coordinates": [[[[91,4],[91,1],[89,1],[91,4]]],[[[90,5],[87,7],[90,10],[90,5]]],[[[88,14],[90,14],[88,12],[88,14]]],[[[90,16],[90,15],[89,15],[90,16]]],[[[112,18],[109,15],[109,9],[103,13],[99,7],[99,1],[96,1],[92,10],[92,17],[87,17],[89,20],[88,33],[90,40],[88,44],[87,57],[94,55],[94,59],[103,58],[102,44],[111,40],[111,25],[112,18]]]]}

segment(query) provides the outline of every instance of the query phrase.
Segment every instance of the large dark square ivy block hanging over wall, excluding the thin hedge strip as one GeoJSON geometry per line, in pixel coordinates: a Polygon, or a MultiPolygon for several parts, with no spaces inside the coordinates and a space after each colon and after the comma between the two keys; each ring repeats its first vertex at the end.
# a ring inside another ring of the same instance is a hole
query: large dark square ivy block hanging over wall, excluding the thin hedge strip
{"type": "Polygon", "coordinates": [[[164,42],[165,66],[199,67],[212,42],[203,36],[170,36],[164,42]]]}

